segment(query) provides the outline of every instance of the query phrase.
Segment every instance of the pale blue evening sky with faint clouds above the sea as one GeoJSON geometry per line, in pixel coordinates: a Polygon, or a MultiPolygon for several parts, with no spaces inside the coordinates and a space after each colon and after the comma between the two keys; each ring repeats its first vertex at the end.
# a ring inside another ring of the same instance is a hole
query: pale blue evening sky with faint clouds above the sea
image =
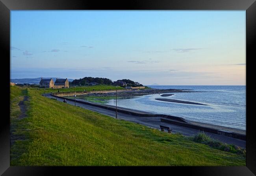
{"type": "Polygon", "coordinates": [[[246,11],[11,11],[11,79],[246,85],[246,11]]]}

